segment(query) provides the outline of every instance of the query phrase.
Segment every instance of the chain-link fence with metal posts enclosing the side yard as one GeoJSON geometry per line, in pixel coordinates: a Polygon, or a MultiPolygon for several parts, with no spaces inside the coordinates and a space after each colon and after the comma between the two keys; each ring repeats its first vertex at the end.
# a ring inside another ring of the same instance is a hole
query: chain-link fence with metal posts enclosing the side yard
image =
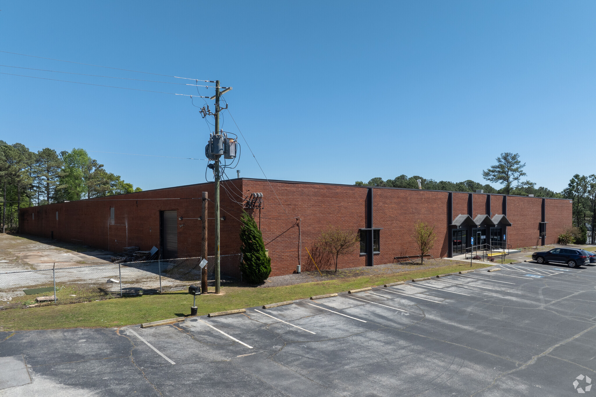
{"type": "MultiPolygon", "coordinates": [[[[0,310],[101,301],[183,290],[200,284],[203,258],[55,267],[0,273],[0,310]]],[[[222,255],[221,283],[240,279],[241,254],[222,255]]],[[[207,257],[207,285],[215,286],[215,257],[207,257]]]]}

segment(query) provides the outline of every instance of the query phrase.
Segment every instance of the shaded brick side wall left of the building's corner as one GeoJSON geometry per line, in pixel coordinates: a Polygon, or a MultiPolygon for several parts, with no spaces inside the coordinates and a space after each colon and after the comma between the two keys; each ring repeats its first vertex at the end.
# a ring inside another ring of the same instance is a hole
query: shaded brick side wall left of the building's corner
{"type": "MultiPolygon", "coordinates": [[[[224,186],[224,184],[222,184],[224,186]]],[[[241,181],[226,182],[228,190],[241,190],[241,181]]],[[[145,192],[108,196],[88,200],[23,208],[20,212],[22,233],[50,237],[65,242],[80,243],[112,252],[122,252],[125,246],[138,246],[142,251],[160,248],[160,211],[176,210],[178,220],[178,256],[201,255],[201,192],[214,198],[213,183],[147,190],[145,192]],[[114,222],[110,221],[114,208],[114,222]],[[56,219],[58,212],[58,219],[56,219]],[[33,215],[35,214],[35,215],[33,215]]],[[[240,252],[238,214],[240,205],[221,189],[221,255],[240,252]],[[228,213],[226,213],[227,211],[228,213]]],[[[234,197],[230,194],[232,198],[234,197]]],[[[212,202],[207,204],[208,218],[215,217],[212,202]]],[[[208,254],[214,255],[214,220],[208,220],[208,254]]]]}

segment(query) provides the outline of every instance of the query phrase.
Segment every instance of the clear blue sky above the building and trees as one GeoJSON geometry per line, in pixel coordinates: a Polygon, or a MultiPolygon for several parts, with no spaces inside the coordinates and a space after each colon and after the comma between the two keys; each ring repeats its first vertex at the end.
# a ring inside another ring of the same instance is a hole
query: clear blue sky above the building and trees
{"type": "MultiPolygon", "coordinates": [[[[575,173],[596,172],[594,2],[36,1],[0,9],[2,51],[233,86],[225,98],[269,179],[483,182],[482,169],[505,151],[519,152],[528,178],[555,191],[575,173]]],[[[5,53],[0,64],[190,81],[5,53]]],[[[8,143],[204,158],[209,128],[186,96],[5,74],[0,87],[8,143]]],[[[228,114],[223,128],[237,133],[228,114]]],[[[242,176],[263,177],[240,142],[242,176]]],[[[91,154],[142,189],[204,181],[206,161],[91,154]]]]}

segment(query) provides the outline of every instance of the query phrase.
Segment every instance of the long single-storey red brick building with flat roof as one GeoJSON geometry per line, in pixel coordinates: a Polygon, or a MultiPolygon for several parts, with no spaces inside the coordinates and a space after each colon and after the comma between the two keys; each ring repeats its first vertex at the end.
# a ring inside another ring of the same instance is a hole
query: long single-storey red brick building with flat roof
{"type": "MultiPolygon", "coordinates": [[[[213,199],[213,187],[201,183],[21,208],[20,231],[113,252],[156,246],[164,257],[200,256],[201,192],[213,199]]],[[[208,205],[213,255],[213,202],[208,205]]],[[[572,223],[569,199],[241,178],[221,184],[222,255],[240,252],[245,208],[262,230],[272,276],[293,273],[299,263],[314,269],[306,249],[319,267],[329,268],[331,258],[316,249],[329,226],[361,236],[360,249],[340,258],[339,267],[346,268],[417,254],[412,235],[418,220],[435,228],[434,257],[464,252],[472,238],[474,245],[507,248],[554,243],[572,223]],[[262,193],[262,202],[253,193],[262,193]]],[[[237,269],[228,273],[238,276],[237,269]]]]}

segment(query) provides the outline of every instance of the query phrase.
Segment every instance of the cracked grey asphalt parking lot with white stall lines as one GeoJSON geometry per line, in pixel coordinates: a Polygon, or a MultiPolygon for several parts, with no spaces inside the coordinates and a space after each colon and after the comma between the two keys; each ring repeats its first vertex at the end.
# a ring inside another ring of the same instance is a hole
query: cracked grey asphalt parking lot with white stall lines
{"type": "Polygon", "coordinates": [[[592,392],[596,267],[495,267],[148,329],[2,332],[0,396],[592,392]]]}

